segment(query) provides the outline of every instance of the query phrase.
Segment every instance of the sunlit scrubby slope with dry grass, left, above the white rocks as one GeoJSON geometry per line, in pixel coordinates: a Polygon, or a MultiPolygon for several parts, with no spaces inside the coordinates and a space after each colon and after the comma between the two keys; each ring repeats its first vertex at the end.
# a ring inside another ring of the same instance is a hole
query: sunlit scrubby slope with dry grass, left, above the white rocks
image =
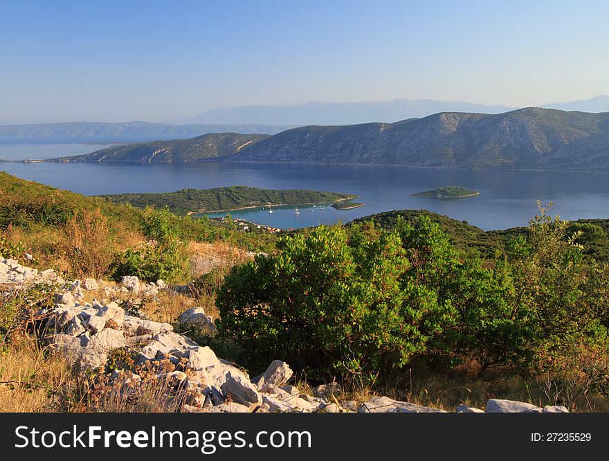
{"type": "MultiPolygon", "coordinates": [[[[231,222],[232,224],[232,222],[231,222]]],[[[0,255],[55,268],[67,278],[138,275],[187,282],[188,244],[224,241],[272,251],[275,235],[244,233],[207,218],[163,208],[138,209],[84,197],[0,172],[0,255]]]]}

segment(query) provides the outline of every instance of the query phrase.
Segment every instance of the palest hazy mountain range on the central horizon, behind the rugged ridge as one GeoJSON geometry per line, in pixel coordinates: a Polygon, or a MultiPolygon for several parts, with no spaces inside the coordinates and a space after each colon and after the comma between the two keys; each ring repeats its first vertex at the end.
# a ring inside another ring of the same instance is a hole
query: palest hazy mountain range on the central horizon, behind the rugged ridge
{"type": "Polygon", "coordinates": [[[275,106],[220,107],[191,118],[189,123],[264,123],[269,125],[354,125],[421,118],[438,112],[500,114],[513,108],[471,102],[397,99],[385,102],[306,102],[275,106]]]}

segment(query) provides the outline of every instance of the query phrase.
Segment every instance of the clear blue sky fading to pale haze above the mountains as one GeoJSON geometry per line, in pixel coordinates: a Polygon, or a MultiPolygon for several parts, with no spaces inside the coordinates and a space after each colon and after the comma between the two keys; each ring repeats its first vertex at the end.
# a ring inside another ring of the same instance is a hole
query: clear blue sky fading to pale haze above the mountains
{"type": "Polygon", "coordinates": [[[0,0],[0,123],[609,94],[609,1],[0,0]]]}

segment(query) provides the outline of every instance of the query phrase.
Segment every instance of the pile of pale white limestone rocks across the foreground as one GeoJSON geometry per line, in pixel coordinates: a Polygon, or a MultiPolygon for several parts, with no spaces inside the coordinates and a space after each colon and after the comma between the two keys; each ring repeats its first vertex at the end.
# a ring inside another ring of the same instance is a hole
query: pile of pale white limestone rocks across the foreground
{"type": "MultiPolygon", "coordinates": [[[[140,296],[150,285],[163,289],[164,284],[160,282],[142,284],[137,278],[124,278],[123,287],[112,289],[140,296]]],[[[82,301],[84,290],[109,288],[102,281],[66,282],[52,270],[39,272],[15,260],[0,259],[0,284],[3,290],[9,291],[33,284],[55,287],[53,306],[33,316],[39,322],[42,341],[51,350],[61,354],[77,370],[98,368],[118,392],[122,392],[125,383],[143,381],[139,370],[147,375],[146,379],[152,373],[156,382],[165,386],[165,395],[181,399],[183,411],[188,413],[445,413],[389,397],[372,397],[365,402],[339,401],[342,390],[336,383],[317,386],[312,395],[307,395],[296,386],[287,385],[293,372],[280,360],[271,362],[262,374],[250,379],[233,363],[219,359],[210,347],[200,346],[174,332],[168,323],[130,315],[113,301],[82,301]],[[112,369],[109,359],[115,351],[129,351],[136,356],[134,370],[112,369]],[[171,365],[170,370],[166,365],[171,365]]],[[[197,308],[186,311],[181,316],[182,322],[201,320],[204,323],[207,317],[203,318],[205,314],[201,311],[197,308]]],[[[484,410],[460,405],[457,413],[484,413],[484,410]]],[[[486,413],[567,413],[567,409],[490,399],[486,413]]]]}

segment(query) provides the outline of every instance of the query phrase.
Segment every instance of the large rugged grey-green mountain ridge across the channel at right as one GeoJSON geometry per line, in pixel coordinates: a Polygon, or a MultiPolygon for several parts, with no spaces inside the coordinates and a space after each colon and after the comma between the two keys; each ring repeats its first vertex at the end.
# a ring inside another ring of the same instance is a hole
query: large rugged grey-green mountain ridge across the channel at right
{"type": "Polygon", "coordinates": [[[609,113],[536,107],[444,112],[397,123],[289,129],[236,161],[609,171],[609,113]]]}

